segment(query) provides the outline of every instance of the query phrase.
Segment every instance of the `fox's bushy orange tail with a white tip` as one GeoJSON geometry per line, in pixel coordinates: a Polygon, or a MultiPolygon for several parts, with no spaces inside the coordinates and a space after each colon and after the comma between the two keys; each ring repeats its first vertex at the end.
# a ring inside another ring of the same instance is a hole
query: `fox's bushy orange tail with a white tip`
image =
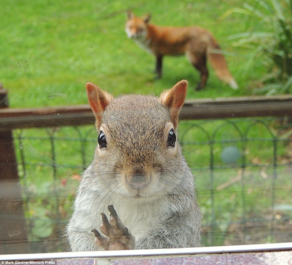
{"type": "Polygon", "coordinates": [[[238,84],[234,80],[232,74],[228,70],[226,60],[222,54],[222,50],[213,36],[210,38],[210,46],[208,48],[208,60],[215,70],[217,77],[228,84],[231,88],[237,89],[238,84]]]}

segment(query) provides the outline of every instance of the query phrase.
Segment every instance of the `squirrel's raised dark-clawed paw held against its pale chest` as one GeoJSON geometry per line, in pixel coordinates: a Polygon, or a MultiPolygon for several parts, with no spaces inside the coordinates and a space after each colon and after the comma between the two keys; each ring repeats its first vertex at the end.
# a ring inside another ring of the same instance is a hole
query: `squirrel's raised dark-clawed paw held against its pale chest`
{"type": "Polygon", "coordinates": [[[110,212],[110,220],[104,213],[101,213],[102,222],[100,224],[100,231],[107,237],[100,235],[96,229],[92,229],[94,233],[95,245],[104,250],[130,250],[134,249],[135,239],[131,235],[129,229],[123,225],[113,205],[109,205],[107,209],[110,212]]]}

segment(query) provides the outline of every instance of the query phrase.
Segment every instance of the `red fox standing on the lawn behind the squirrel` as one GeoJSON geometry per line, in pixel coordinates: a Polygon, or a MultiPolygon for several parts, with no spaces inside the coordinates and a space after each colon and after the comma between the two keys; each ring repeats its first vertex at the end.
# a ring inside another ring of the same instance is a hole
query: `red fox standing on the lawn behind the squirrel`
{"type": "Polygon", "coordinates": [[[231,88],[238,85],[229,72],[222,51],[207,30],[200,27],[161,27],[150,24],[150,15],[136,17],[128,11],[126,22],[127,36],[139,46],[156,57],[155,73],[160,78],[162,74],[162,58],[164,55],[183,55],[199,71],[200,81],[196,90],[202,90],[208,79],[207,58],[219,79],[231,88]]]}

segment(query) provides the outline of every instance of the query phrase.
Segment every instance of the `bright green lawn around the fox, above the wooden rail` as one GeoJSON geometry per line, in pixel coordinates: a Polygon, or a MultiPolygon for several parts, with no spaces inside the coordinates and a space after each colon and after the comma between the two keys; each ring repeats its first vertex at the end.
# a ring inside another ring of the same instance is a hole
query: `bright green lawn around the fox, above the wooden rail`
{"type": "Polygon", "coordinates": [[[250,26],[247,18],[219,17],[242,1],[28,1],[3,0],[0,9],[0,82],[11,107],[87,103],[85,83],[98,84],[114,95],[158,95],[181,79],[190,83],[188,98],[250,95],[253,81],[265,71],[248,65],[251,50],[234,47],[228,37],[250,26]],[[226,53],[239,84],[234,91],[210,70],[204,91],[195,92],[199,75],[185,57],[166,57],[164,76],[154,80],[154,57],[124,32],[126,10],[152,14],[159,25],[198,25],[209,29],[226,53]]]}

